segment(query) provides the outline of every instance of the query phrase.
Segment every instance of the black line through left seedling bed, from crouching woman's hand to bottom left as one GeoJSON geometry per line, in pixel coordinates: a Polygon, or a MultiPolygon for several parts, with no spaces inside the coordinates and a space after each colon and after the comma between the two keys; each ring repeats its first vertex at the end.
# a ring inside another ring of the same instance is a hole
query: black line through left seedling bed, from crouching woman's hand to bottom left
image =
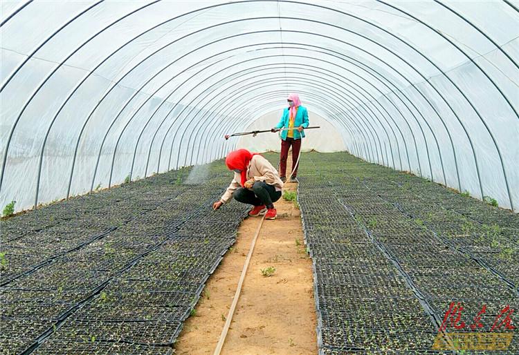
{"type": "MultiPolygon", "coordinates": [[[[171,199],[169,199],[169,200],[171,200],[171,199]]],[[[47,340],[47,338],[49,338],[52,334],[54,334],[57,331],[57,329],[60,329],[60,327],[62,327],[63,323],[72,314],[74,314],[75,311],[78,311],[78,309],[84,307],[84,305],[86,305],[91,300],[93,300],[93,298],[95,298],[95,296],[100,294],[101,291],[104,290],[114,278],[122,275],[125,271],[131,269],[131,267],[136,265],[137,262],[139,262],[141,259],[145,258],[145,256],[147,256],[149,253],[152,253],[153,251],[156,251],[156,249],[162,247],[166,242],[170,242],[170,240],[172,240],[174,238],[174,236],[175,236],[174,233],[176,231],[178,231],[183,224],[188,222],[188,220],[192,219],[192,217],[194,215],[196,215],[197,212],[201,211],[203,209],[203,206],[205,206],[206,204],[209,204],[211,201],[212,201],[212,198],[210,198],[204,204],[202,204],[201,207],[199,207],[197,210],[194,211],[194,213],[189,213],[187,218],[184,218],[184,220],[182,220],[181,222],[179,222],[179,224],[174,226],[174,229],[175,229],[174,231],[168,233],[170,235],[168,238],[166,238],[165,240],[163,240],[161,242],[156,243],[153,247],[147,249],[147,251],[145,251],[144,253],[140,253],[138,256],[136,256],[134,259],[132,259],[130,262],[128,262],[125,267],[120,269],[117,272],[117,274],[113,274],[113,276],[111,276],[111,278],[109,278],[108,280],[102,282],[101,285],[96,287],[88,297],[84,298],[80,302],[76,303],[73,307],[71,307],[67,311],[65,311],[64,314],[62,314],[59,318],[57,318],[57,321],[53,324],[52,327],[49,327],[44,333],[40,334],[40,336],[38,336],[36,338],[34,343],[29,345],[29,347],[27,347],[24,350],[24,352],[21,352],[21,354],[22,355],[28,355],[28,354],[33,353],[40,345],[42,345],[42,343],[44,343],[45,340],[47,340]]],[[[168,345],[165,345],[164,343],[158,343],[158,344],[149,343],[148,345],[152,345],[152,346],[171,346],[172,343],[170,343],[168,345]]]]}

